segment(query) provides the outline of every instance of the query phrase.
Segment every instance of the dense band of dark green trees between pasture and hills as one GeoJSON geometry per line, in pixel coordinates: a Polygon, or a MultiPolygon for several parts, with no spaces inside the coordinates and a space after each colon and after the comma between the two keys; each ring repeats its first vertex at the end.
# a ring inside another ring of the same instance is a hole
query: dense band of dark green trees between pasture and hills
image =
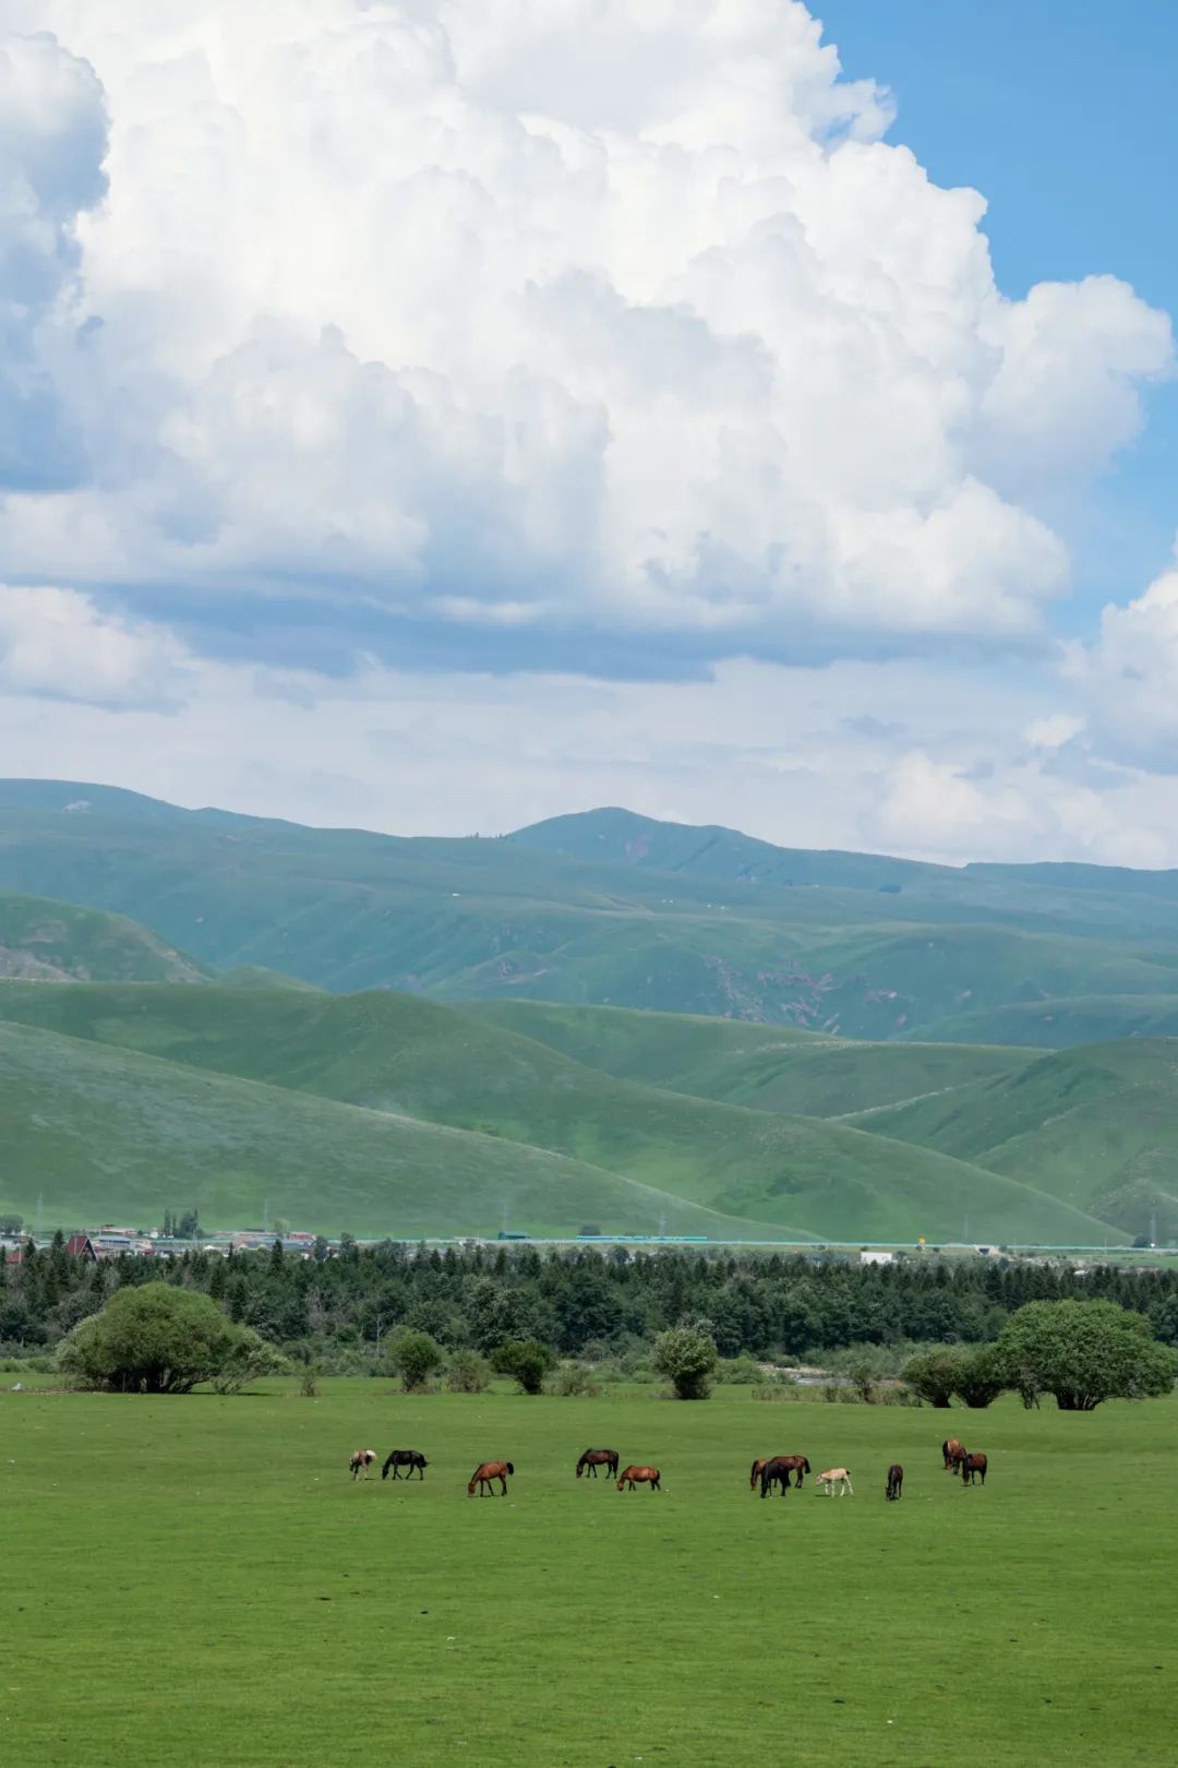
{"type": "Polygon", "coordinates": [[[325,1368],[376,1367],[390,1335],[427,1333],[447,1353],[493,1356],[537,1342],[562,1358],[648,1353],[659,1333],[706,1322],[724,1358],[805,1360],[851,1344],[998,1338],[1028,1301],[1107,1299],[1178,1345],[1178,1269],[910,1255],[860,1266],[821,1255],[717,1250],[426,1250],[348,1241],[337,1257],[193,1252],[180,1259],[72,1259],[58,1239],[0,1266],[0,1354],[51,1349],[115,1291],[161,1276],[205,1291],[238,1326],[325,1368]]]}

